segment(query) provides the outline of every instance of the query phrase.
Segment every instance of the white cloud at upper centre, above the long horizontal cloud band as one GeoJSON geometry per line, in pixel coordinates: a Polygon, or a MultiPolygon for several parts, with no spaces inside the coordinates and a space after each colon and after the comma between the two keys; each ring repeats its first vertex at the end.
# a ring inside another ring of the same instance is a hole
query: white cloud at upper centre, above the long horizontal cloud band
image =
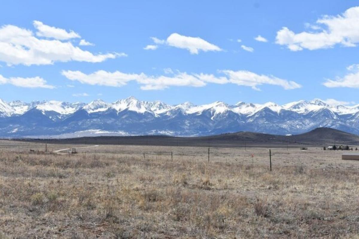
{"type": "Polygon", "coordinates": [[[209,43],[200,37],[187,37],[178,33],[172,33],[166,40],[161,40],[156,37],[151,37],[151,39],[157,45],[149,46],[153,46],[153,48],[156,47],[155,49],[157,49],[158,45],[166,44],[171,47],[186,49],[191,54],[198,54],[200,51],[222,51],[218,46],[209,43]]]}

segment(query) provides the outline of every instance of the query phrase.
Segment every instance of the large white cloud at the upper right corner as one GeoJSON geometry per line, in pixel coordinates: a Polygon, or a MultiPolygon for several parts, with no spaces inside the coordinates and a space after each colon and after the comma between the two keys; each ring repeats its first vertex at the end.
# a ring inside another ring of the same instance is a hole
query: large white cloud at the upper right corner
{"type": "Polygon", "coordinates": [[[359,42],[359,7],[347,9],[336,16],[325,15],[316,21],[318,25],[306,24],[314,32],[294,33],[287,27],[277,32],[276,43],[288,47],[291,51],[303,49],[316,50],[334,47],[355,47],[359,42]]]}

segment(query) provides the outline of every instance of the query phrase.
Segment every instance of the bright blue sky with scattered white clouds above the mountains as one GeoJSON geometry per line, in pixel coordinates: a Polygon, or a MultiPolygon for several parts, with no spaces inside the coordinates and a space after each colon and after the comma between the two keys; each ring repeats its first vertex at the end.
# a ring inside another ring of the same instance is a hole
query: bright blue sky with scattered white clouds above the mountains
{"type": "Polygon", "coordinates": [[[359,1],[5,1],[0,98],[358,104],[356,6],[359,1]]]}

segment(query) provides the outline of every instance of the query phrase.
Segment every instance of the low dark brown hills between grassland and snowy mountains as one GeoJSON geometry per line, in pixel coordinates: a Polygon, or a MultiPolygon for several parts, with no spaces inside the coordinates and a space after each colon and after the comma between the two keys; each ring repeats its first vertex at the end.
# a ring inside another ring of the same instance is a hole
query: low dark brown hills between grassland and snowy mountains
{"type": "Polygon", "coordinates": [[[164,145],[198,147],[298,147],[299,145],[359,145],[359,136],[331,128],[316,128],[298,135],[238,132],[206,137],[100,136],[71,139],[26,139],[26,141],[72,144],[164,145]]]}

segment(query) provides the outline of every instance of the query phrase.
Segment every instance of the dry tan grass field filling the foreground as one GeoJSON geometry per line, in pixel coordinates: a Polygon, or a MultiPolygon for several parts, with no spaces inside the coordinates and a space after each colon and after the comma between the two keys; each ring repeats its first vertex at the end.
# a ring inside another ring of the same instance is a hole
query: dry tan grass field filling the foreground
{"type": "Polygon", "coordinates": [[[0,141],[0,238],[359,238],[342,152],[275,148],[270,172],[267,148],[29,149],[0,141]]]}

